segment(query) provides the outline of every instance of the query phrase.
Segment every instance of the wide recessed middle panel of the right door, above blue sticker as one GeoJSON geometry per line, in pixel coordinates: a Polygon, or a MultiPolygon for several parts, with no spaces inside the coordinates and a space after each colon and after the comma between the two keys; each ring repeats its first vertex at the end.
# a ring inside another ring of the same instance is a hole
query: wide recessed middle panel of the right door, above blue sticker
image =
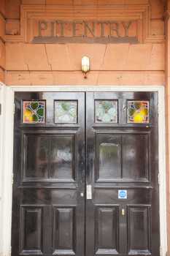
{"type": "Polygon", "coordinates": [[[149,135],[142,130],[96,133],[96,181],[148,181],[149,135]]]}

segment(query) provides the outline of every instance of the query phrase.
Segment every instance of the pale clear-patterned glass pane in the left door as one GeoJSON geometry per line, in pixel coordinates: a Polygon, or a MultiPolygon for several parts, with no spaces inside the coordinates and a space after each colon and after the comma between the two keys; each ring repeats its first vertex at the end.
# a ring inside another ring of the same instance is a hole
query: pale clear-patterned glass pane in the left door
{"type": "Polygon", "coordinates": [[[76,124],[77,123],[77,101],[55,101],[55,123],[76,124]]]}

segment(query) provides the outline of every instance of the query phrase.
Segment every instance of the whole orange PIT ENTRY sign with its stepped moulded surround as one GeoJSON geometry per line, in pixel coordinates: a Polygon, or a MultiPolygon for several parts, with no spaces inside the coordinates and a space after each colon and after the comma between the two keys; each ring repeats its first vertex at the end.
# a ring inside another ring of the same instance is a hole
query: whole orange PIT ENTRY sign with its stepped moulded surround
{"type": "Polygon", "coordinates": [[[149,0],[83,8],[81,5],[23,4],[20,35],[7,35],[5,39],[28,43],[164,42],[163,35],[150,33],[149,0]]]}

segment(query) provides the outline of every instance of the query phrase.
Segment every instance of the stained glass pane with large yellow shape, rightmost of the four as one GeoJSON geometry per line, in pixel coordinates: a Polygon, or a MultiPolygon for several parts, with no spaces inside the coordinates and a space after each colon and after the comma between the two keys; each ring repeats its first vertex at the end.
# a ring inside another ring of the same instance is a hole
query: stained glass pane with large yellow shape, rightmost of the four
{"type": "Polygon", "coordinates": [[[128,123],[149,123],[150,102],[133,100],[128,101],[128,123]]]}

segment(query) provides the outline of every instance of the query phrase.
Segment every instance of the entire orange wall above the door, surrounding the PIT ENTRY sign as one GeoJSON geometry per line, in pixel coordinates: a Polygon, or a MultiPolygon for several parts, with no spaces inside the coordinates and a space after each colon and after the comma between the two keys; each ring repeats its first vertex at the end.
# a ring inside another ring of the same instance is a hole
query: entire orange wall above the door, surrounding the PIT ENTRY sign
{"type": "MultiPolygon", "coordinates": [[[[34,45],[20,41],[20,4],[101,5],[147,4],[147,0],[8,0],[6,2],[7,85],[161,85],[165,83],[164,7],[150,1],[150,39],[130,45],[34,45]],[[13,38],[13,42],[12,42],[13,38]],[[81,58],[90,56],[91,72],[84,80],[81,58]]],[[[83,16],[83,14],[82,14],[83,16]]],[[[74,17],[73,17],[74,18],[74,17]]],[[[94,14],[94,18],[95,14],[94,14]]],[[[22,41],[22,40],[21,40],[22,41]]]]}

